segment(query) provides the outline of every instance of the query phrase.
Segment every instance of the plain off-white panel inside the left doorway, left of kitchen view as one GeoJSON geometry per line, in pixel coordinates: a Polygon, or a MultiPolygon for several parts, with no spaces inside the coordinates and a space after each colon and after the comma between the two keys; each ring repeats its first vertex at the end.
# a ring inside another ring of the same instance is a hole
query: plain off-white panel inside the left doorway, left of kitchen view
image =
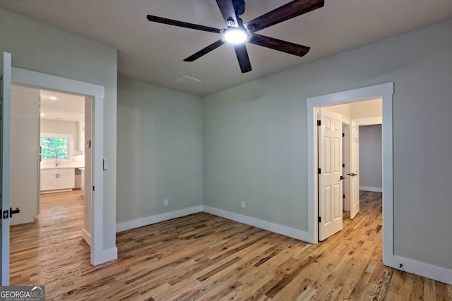
{"type": "Polygon", "coordinates": [[[10,205],[20,209],[13,226],[35,221],[39,206],[40,90],[11,87],[11,149],[10,205]]]}

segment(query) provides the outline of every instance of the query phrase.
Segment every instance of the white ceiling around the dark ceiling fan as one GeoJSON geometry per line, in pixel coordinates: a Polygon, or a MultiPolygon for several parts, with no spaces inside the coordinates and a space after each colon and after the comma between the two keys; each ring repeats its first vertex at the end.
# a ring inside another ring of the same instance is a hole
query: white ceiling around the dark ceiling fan
{"type": "MultiPolygon", "coordinates": [[[[287,2],[248,0],[242,19],[249,21],[287,2]]],[[[452,17],[451,0],[326,0],[323,8],[258,32],[311,47],[306,56],[247,44],[253,70],[242,74],[229,44],[192,63],[182,61],[219,35],[145,18],[151,14],[225,28],[214,0],[1,0],[0,7],[116,47],[119,75],[198,95],[452,17]],[[201,82],[192,86],[174,82],[183,76],[201,82]]]]}

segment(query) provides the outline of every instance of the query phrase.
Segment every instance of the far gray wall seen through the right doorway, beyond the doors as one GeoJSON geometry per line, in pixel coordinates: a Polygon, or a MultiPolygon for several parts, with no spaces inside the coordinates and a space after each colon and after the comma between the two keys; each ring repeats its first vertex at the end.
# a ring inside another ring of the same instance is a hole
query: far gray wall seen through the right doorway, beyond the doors
{"type": "Polygon", "coordinates": [[[359,127],[359,186],[381,189],[381,125],[359,127]]]}

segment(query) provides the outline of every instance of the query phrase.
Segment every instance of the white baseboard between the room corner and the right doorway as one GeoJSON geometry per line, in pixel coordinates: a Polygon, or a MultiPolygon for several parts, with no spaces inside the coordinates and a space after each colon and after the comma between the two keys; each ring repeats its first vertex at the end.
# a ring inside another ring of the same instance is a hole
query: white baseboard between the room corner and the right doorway
{"type": "Polygon", "coordinates": [[[232,221],[237,221],[239,223],[245,223],[246,225],[249,225],[249,226],[254,226],[257,228],[261,228],[263,230],[282,234],[282,235],[288,236],[290,238],[295,238],[296,240],[302,240],[304,242],[310,241],[309,233],[295,229],[295,228],[283,226],[278,223],[271,223],[270,221],[254,219],[253,217],[244,216],[242,214],[236,214],[234,212],[225,211],[222,209],[217,209],[217,208],[213,208],[213,207],[209,207],[209,206],[203,206],[203,211],[216,215],[216,216],[224,217],[225,219],[231,219],[232,221]]]}

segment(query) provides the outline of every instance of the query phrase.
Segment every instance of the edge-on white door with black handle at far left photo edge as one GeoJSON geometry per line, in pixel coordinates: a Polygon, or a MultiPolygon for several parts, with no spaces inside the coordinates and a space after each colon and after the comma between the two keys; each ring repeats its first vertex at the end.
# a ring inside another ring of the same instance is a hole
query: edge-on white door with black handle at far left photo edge
{"type": "Polygon", "coordinates": [[[9,149],[11,112],[11,54],[4,52],[1,63],[0,104],[0,282],[9,285],[9,149]],[[5,219],[3,219],[5,218],[5,219]]]}

